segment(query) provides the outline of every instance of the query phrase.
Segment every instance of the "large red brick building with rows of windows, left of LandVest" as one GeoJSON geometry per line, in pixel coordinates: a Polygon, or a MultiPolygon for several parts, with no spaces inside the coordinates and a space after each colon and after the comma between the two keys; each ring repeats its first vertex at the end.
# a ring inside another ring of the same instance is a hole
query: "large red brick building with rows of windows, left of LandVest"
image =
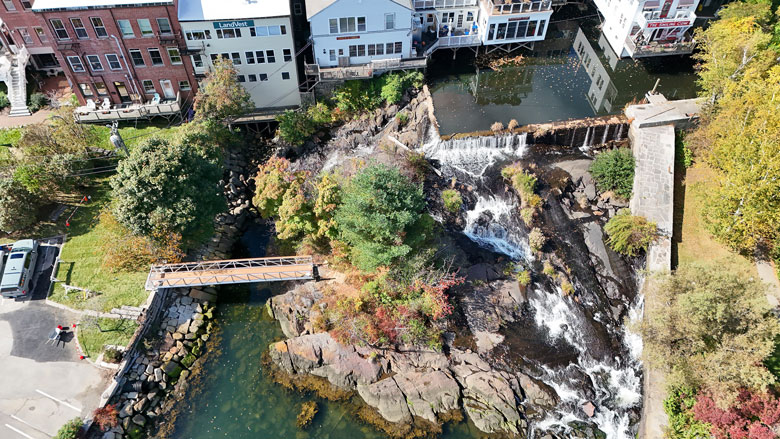
{"type": "Polygon", "coordinates": [[[82,104],[190,101],[197,81],[175,0],[35,0],[82,104]]]}

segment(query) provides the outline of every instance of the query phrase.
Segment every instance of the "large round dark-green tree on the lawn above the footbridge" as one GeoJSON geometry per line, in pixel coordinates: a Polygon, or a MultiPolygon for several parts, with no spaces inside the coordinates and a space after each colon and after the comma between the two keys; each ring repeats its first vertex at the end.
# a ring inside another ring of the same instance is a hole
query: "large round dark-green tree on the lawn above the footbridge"
{"type": "Polygon", "coordinates": [[[112,177],[113,213],[133,233],[189,239],[224,210],[221,177],[213,151],[153,138],[134,148],[112,177]]]}

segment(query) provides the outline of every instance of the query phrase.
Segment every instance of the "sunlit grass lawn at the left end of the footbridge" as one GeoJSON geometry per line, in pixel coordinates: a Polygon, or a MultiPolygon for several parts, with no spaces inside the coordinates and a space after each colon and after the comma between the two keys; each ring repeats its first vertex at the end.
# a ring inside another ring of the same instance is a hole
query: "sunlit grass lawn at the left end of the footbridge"
{"type": "MultiPolygon", "coordinates": [[[[68,285],[88,288],[99,294],[86,300],[78,291],[66,296],[62,284],[56,283],[49,298],[73,308],[99,311],[110,311],[121,305],[138,306],[148,296],[144,290],[148,272],[111,272],[102,267],[104,255],[100,244],[112,239],[112,234],[99,223],[98,215],[108,204],[110,187],[107,179],[97,183],[91,203],[80,207],[70,220],[66,231],[68,240],[60,255],[62,262],[56,277],[68,285]]],[[[70,212],[69,209],[66,214],[70,212]]]]}

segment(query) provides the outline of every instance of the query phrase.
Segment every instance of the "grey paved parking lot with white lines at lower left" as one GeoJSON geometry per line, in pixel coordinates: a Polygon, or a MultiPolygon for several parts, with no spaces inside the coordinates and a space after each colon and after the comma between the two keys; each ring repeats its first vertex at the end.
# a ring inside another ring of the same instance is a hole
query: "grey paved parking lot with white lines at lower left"
{"type": "Polygon", "coordinates": [[[32,297],[0,299],[0,438],[51,438],[60,426],[97,407],[111,377],[79,359],[69,331],[56,346],[57,327],[78,315],[45,304],[61,240],[42,242],[32,297]]]}

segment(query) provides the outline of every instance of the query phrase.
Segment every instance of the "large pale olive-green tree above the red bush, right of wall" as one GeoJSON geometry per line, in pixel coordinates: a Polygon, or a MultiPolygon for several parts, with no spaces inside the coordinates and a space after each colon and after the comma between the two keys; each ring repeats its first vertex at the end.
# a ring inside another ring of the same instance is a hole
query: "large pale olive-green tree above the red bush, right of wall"
{"type": "Polygon", "coordinates": [[[740,389],[774,382],[762,362],[780,334],[764,286],[716,268],[680,267],[651,294],[662,310],[641,332],[646,359],[669,372],[672,386],[702,389],[724,405],[740,389]]]}

